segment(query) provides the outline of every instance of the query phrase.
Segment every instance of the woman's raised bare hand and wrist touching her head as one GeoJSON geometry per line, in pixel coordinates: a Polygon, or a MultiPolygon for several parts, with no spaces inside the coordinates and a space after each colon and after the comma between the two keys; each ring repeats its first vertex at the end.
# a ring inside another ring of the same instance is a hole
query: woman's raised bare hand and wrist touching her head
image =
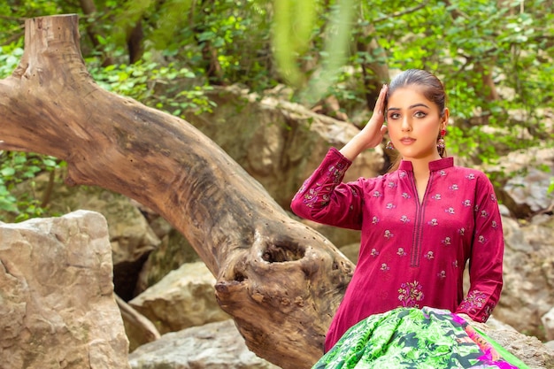
{"type": "Polygon", "coordinates": [[[359,153],[363,150],[374,148],[381,144],[383,135],[387,132],[387,126],[384,126],[385,122],[385,97],[389,87],[383,85],[379,92],[379,97],[373,108],[372,118],[369,119],[365,127],[352,137],[341,149],[341,153],[344,157],[349,158],[350,161],[358,157],[359,153]]]}

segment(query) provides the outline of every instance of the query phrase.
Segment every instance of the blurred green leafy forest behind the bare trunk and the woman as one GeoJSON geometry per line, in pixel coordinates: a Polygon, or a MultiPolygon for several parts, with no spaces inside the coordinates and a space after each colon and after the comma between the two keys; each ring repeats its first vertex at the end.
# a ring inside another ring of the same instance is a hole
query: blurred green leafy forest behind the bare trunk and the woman
{"type": "MultiPolygon", "coordinates": [[[[25,19],[67,13],[81,18],[100,86],[183,119],[217,109],[213,88],[238,85],[362,127],[383,83],[422,68],[449,93],[450,154],[494,164],[552,145],[553,10],[553,0],[7,0],[0,78],[19,64],[25,19]]],[[[48,192],[13,189],[64,165],[0,152],[0,210],[15,221],[46,214],[48,192]]]]}

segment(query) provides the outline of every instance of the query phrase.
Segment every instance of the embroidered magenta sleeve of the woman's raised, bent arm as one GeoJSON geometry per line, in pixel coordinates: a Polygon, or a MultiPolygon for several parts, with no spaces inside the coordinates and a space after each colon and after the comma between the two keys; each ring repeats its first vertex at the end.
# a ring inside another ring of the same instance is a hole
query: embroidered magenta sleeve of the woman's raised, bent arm
{"type": "Polygon", "coordinates": [[[293,197],[292,211],[299,217],[329,226],[361,229],[362,180],[342,183],[351,164],[339,150],[329,149],[319,167],[293,197]]]}

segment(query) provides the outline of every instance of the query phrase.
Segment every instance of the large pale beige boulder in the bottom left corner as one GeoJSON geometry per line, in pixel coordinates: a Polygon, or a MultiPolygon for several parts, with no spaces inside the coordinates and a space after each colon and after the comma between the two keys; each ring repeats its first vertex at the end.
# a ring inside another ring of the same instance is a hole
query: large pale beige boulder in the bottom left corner
{"type": "Polygon", "coordinates": [[[1,367],[129,367],[101,214],[0,224],[0,285],[1,367]]]}

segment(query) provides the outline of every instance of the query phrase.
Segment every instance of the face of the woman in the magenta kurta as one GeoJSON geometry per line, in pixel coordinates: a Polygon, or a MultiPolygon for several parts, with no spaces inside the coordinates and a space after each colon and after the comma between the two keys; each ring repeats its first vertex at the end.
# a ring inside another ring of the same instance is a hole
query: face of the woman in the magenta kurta
{"type": "Polygon", "coordinates": [[[389,96],[389,137],[404,160],[441,158],[436,140],[449,116],[448,109],[441,112],[434,102],[427,100],[419,86],[398,88],[389,96]]]}

